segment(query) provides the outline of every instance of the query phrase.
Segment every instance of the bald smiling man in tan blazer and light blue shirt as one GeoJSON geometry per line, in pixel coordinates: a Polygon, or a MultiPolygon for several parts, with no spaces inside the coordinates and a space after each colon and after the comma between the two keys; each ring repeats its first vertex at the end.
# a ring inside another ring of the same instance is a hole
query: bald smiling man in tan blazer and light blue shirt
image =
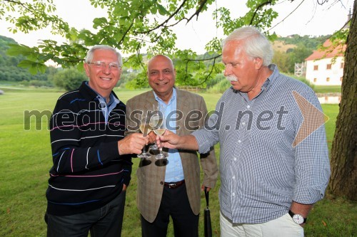
{"type": "MultiPolygon", "coordinates": [[[[171,128],[167,128],[177,135],[188,135],[203,127],[207,114],[206,103],[200,95],[174,87],[176,70],[169,57],[158,55],[151,58],[147,73],[149,85],[153,90],[126,102],[128,132],[139,132],[135,112],[142,111],[146,115],[146,112],[153,110],[153,105],[158,103],[166,107],[166,117],[178,116],[171,128]],[[136,131],[133,130],[134,127],[136,131]]],[[[151,142],[154,142],[154,132],[149,136],[151,142]]],[[[201,189],[206,186],[209,190],[215,186],[218,176],[213,147],[211,152],[201,154],[199,159],[196,152],[187,150],[170,149],[167,154],[169,157],[166,165],[162,165],[162,160],[151,155],[148,158],[151,163],[146,164],[141,160],[136,172],[142,236],[166,236],[169,216],[173,219],[176,237],[198,236],[201,189]],[[201,162],[204,173],[202,186],[198,162],[201,162]]]]}

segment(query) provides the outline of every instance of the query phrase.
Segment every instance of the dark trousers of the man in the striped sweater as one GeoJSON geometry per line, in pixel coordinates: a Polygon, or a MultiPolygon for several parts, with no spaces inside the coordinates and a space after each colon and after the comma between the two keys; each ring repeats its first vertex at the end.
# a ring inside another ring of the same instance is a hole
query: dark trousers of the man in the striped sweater
{"type": "Polygon", "coordinates": [[[91,237],[121,236],[121,226],[124,216],[126,191],[121,191],[113,201],[106,206],[71,216],[53,216],[46,214],[48,237],[91,237]]]}

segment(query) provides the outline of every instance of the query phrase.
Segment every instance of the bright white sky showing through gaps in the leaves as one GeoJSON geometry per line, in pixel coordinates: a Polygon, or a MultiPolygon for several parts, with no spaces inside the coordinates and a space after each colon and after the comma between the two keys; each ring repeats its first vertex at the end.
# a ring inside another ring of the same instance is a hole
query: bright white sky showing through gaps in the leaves
{"type": "MultiPolygon", "coordinates": [[[[353,10],[353,0],[327,0],[322,6],[318,2],[326,0],[282,0],[274,9],[278,11],[278,19],[273,21],[273,27],[270,31],[275,31],[279,36],[289,36],[298,34],[301,36],[321,36],[332,34],[339,30],[347,21],[348,12],[353,10]],[[335,4],[333,4],[335,2],[335,4]],[[299,6],[300,5],[300,6],[299,6]],[[293,11],[296,9],[296,11],[293,11]],[[288,17],[287,17],[288,16],[288,17]],[[286,18],[287,17],[287,18],[286,18]]],[[[243,16],[247,8],[246,1],[242,0],[216,0],[214,7],[224,6],[230,9],[232,17],[243,16]]],[[[95,9],[88,0],[54,0],[56,5],[56,14],[67,21],[71,27],[77,29],[92,29],[92,21],[96,17],[106,16],[103,9],[95,9]],[[81,9],[79,11],[79,9],[81,9]]],[[[53,39],[63,42],[64,39],[59,36],[53,36],[50,29],[33,31],[31,33],[10,33],[7,28],[9,23],[0,21],[0,35],[14,38],[18,43],[26,46],[37,46],[40,39],[53,39]]],[[[267,29],[264,29],[267,30],[267,29]]],[[[217,36],[224,38],[223,31],[215,27],[211,12],[200,14],[198,21],[180,23],[175,30],[178,40],[176,46],[180,49],[191,48],[197,53],[204,53],[206,43],[217,36]]]]}

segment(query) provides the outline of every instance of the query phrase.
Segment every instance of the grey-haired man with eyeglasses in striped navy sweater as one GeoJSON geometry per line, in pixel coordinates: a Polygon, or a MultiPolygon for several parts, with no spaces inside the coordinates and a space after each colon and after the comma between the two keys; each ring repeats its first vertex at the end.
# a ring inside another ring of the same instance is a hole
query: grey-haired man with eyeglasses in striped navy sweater
{"type": "Polygon", "coordinates": [[[121,65],[115,48],[94,46],[84,63],[89,82],[57,100],[50,121],[47,236],[121,236],[130,154],[149,143],[139,133],[124,138],[126,105],[113,92],[121,65]]]}

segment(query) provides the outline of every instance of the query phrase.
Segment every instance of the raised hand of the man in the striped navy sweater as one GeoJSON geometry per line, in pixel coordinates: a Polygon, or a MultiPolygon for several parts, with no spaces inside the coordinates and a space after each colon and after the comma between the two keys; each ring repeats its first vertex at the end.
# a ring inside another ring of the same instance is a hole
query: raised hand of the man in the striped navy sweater
{"type": "Polygon", "coordinates": [[[140,154],[146,144],[149,144],[149,136],[132,133],[118,142],[119,154],[140,154]]]}

